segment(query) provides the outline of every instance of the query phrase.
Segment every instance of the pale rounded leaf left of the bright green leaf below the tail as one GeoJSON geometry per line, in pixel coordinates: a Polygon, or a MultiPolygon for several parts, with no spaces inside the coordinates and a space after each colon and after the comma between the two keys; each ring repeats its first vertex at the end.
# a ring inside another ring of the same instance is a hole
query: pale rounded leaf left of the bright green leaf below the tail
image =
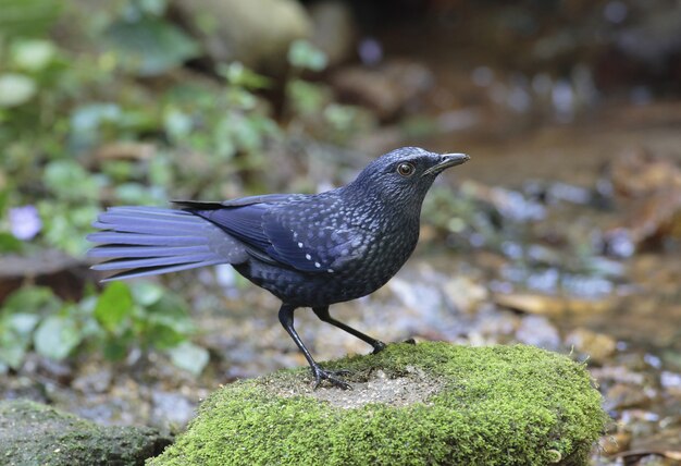
{"type": "Polygon", "coordinates": [[[78,327],[67,316],[49,316],[38,326],[34,346],[42,356],[61,360],[69,356],[82,339],[78,327]]]}

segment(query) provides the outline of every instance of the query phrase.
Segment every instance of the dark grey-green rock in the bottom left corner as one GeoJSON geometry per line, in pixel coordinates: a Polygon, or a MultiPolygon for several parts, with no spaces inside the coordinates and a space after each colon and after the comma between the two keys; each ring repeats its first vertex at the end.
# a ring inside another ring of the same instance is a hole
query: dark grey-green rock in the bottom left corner
{"type": "Polygon", "coordinates": [[[2,465],[141,465],[170,441],[146,427],[99,426],[26,400],[0,402],[2,465]]]}

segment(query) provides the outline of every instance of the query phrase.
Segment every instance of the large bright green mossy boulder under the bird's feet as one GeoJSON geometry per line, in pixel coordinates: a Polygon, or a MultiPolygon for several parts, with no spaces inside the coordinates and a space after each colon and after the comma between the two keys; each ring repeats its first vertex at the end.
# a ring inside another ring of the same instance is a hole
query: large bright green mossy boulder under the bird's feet
{"type": "Polygon", "coordinates": [[[580,465],[604,429],[583,365],[532,346],[393,344],[213,393],[150,465],[580,465]]]}

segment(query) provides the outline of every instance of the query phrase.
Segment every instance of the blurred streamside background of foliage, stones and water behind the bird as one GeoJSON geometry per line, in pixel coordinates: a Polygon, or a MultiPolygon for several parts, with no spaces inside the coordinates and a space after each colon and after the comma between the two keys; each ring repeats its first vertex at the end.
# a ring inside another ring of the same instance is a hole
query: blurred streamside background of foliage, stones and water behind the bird
{"type": "MultiPolygon", "coordinates": [[[[0,396],[178,431],[219,384],[305,366],[230,267],[101,286],[90,223],[422,146],[472,160],[334,314],[585,360],[614,419],[593,464],[678,464],[680,95],[678,0],[0,0],[0,396]]],[[[297,329],[319,359],[369,351],[297,329]]]]}

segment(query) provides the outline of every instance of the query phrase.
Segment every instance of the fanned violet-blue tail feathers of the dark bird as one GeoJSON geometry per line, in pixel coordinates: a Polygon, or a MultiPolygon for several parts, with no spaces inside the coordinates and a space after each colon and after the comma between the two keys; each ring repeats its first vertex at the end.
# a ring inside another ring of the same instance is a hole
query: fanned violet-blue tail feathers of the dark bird
{"type": "Polygon", "coordinates": [[[92,269],[122,270],[104,281],[231,262],[238,248],[220,228],[184,210],[112,207],[92,226],[103,231],[87,236],[99,243],[88,256],[109,259],[92,269]]]}

